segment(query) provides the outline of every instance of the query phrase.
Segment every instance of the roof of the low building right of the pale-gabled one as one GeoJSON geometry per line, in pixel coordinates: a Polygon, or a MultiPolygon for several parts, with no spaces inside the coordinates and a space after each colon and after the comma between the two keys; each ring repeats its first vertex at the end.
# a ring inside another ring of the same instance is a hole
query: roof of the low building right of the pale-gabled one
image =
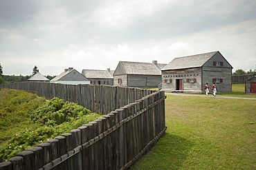
{"type": "Polygon", "coordinates": [[[113,70],[82,70],[86,78],[106,78],[113,79],[113,70]]]}

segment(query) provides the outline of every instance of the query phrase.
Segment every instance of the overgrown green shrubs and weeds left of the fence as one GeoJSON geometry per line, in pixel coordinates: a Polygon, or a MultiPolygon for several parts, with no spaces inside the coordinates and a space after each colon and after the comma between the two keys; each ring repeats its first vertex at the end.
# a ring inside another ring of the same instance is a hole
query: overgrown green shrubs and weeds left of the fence
{"type": "Polygon", "coordinates": [[[59,98],[46,100],[15,89],[1,90],[0,162],[99,117],[89,109],[59,98]]]}

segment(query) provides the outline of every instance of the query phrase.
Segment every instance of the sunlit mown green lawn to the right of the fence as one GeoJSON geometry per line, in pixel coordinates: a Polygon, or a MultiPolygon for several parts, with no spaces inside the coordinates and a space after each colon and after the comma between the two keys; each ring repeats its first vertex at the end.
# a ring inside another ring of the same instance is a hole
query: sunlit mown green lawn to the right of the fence
{"type": "MultiPolygon", "coordinates": [[[[234,86],[225,96],[248,97],[234,86]]],[[[165,136],[131,169],[256,169],[256,100],[167,95],[165,107],[165,136]]]]}

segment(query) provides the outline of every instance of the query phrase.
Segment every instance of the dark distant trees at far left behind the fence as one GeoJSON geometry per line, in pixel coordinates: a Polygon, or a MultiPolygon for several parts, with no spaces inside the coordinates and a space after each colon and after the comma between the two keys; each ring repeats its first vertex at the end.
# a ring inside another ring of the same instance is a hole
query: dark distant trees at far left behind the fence
{"type": "MultiPolygon", "coordinates": [[[[31,75],[27,75],[27,76],[22,76],[21,74],[19,76],[15,76],[15,75],[4,75],[3,74],[3,67],[1,66],[0,63],[0,84],[3,83],[15,83],[15,82],[21,82],[21,81],[27,81],[28,78],[30,78],[31,76],[35,75],[38,72],[38,68],[35,65],[35,67],[33,67],[33,72],[31,75]]],[[[55,76],[45,76],[46,78],[48,78],[49,80],[53,79],[55,76]]]]}

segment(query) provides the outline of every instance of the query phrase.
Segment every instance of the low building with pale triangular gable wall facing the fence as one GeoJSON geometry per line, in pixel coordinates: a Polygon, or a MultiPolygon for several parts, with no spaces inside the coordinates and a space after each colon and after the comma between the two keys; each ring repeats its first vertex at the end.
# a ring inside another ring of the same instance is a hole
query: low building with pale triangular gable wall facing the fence
{"type": "Polygon", "coordinates": [[[68,69],[65,69],[62,74],[55,76],[55,78],[53,78],[50,83],[79,85],[90,84],[90,81],[80,72],[77,72],[77,70],[73,69],[73,67],[68,67],[68,69]]]}

